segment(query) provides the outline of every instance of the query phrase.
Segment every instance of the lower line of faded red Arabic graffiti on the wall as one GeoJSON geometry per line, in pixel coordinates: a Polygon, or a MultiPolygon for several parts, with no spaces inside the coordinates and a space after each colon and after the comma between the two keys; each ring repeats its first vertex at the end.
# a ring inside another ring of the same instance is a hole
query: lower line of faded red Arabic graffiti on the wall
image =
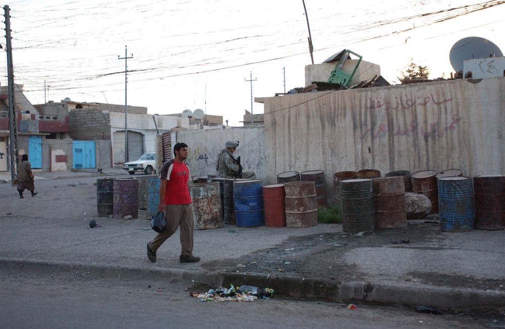
{"type": "Polygon", "coordinates": [[[423,122],[422,125],[418,125],[415,121],[411,121],[409,124],[409,127],[405,127],[405,129],[401,129],[401,125],[398,125],[396,131],[394,132],[394,127],[388,127],[387,124],[381,123],[379,124],[377,130],[374,133],[374,130],[372,127],[367,128],[365,132],[360,136],[360,139],[365,138],[369,133],[372,136],[372,139],[384,137],[387,135],[387,133],[392,133],[393,136],[407,136],[410,137],[411,133],[414,133],[418,127],[420,130],[421,136],[424,138],[427,138],[431,136],[432,134],[436,134],[436,136],[443,136],[447,130],[450,131],[455,131],[456,130],[456,124],[461,121],[463,117],[458,117],[457,115],[452,116],[452,122],[445,126],[445,127],[440,127],[437,130],[438,126],[438,121],[436,122],[427,122],[426,120],[423,122]]]}

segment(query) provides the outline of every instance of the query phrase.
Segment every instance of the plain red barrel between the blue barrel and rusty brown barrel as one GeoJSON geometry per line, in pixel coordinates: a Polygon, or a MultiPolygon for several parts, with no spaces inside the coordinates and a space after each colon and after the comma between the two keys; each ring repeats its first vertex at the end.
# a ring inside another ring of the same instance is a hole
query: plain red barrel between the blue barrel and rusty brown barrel
{"type": "Polygon", "coordinates": [[[286,226],[284,184],[271,184],[263,187],[265,204],[265,225],[269,228],[286,226]]]}

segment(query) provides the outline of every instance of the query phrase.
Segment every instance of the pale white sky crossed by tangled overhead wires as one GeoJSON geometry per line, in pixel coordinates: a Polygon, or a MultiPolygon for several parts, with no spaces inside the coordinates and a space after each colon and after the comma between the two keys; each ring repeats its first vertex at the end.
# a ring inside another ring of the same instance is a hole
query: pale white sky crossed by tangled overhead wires
{"type": "MultiPolygon", "coordinates": [[[[32,104],[66,97],[121,105],[126,100],[159,115],[200,108],[230,126],[242,126],[246,110],[263,113],[261,103],[251,108],[251,95],[305,86],[305,66],[312,64],[307,17],[315,64],[350,49],[379,65],[392,84],[411,58],[430,69],[430,78],[449,78],[455,72],[449,51],[465,37],[483,37],[505,51],[501,0],[305,0],[307,16],[301,0],[5,5],[11,11],[14,81],[32,104]]],[[[0,41],[5,50],[5,37],[0,41]]],[[[0,83],[7,85],[5,51],[2,72],[0,83]]]]}

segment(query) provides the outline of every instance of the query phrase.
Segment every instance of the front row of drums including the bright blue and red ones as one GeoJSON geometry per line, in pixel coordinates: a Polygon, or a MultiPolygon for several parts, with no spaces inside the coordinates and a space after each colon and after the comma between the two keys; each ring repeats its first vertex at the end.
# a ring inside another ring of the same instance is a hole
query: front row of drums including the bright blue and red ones
{"type": "Polygon", "coordinates": [[[195,229],[317,225],[314,182],[263,186],[261,180],[214,178],[190,185],[195,229]]]}

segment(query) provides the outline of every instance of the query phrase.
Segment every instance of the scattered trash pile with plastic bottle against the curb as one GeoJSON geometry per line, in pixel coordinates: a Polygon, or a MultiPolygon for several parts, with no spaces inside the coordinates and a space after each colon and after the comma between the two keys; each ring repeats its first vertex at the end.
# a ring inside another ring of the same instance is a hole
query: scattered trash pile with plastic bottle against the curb
{"type": "Polygon", "coordinates": [[[252,286],[240,286],[211,289],[204,294],[190,292],[189,295],[198,298],[200,302],[254,302],[258,298],[270,298],[274,294],[270,288],[261,289],[252,286]]]}

